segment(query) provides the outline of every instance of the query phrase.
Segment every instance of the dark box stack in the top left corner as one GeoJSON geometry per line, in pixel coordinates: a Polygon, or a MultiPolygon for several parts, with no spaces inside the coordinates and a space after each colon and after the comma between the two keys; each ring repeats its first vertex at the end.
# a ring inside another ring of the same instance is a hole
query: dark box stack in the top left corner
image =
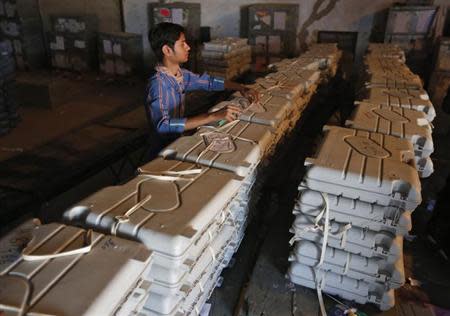
{"type": "Polygon", "coordinates": [[[13,47],[20,70],[42,68],[46,53],[37,0],[1,0],[0,34],[13,47]]]}

